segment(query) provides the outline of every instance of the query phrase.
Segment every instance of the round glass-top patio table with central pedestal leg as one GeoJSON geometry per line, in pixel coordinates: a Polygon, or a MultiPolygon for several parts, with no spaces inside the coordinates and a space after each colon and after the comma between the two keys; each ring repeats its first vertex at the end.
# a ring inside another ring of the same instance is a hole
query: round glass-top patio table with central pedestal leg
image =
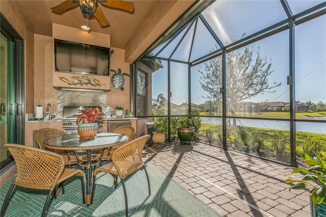
{"type": "Polygon", "coordinates": [[[126,143],[128,137],[119,133],[100,132],[96,134],[96,138],[90,140],[80,140],[78,134],[62,135],[52,139],[45,140],[44,146],[50,149],[58,150],[86,150],[87,167],[86,167],[86,205],[91,204],[91,151],[94,149],[110,148],[112,146],[126,143]]]}

